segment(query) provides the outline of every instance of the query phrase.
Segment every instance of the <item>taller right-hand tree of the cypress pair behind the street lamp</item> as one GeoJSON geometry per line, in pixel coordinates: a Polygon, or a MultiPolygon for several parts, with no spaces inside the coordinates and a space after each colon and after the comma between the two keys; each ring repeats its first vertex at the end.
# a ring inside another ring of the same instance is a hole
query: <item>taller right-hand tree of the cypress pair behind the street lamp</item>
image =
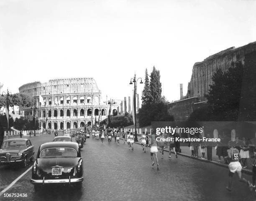
{"type": "Polygon", "coordinates": [[[155,66],[150,75],[150,103],[160,103],[161,102],[161,93],[162,93],[162,84],[160,82],[160,71],[156,70],[155,66]]]}

